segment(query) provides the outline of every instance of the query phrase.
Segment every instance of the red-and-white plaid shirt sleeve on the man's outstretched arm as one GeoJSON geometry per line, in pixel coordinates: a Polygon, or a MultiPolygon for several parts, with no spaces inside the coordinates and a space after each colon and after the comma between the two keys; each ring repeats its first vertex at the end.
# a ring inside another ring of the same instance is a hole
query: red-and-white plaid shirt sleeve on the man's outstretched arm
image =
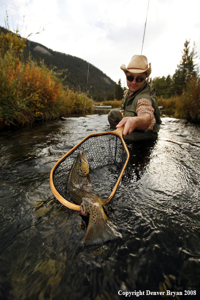
{"type": "Polygon", "coordinates": [[[154,115],[154,108],[152,106],[152,103],[147,98],[141,98],[137,101],[137,107],[136,107],[136,114],[137,116],[140,116],[142,114],[149,114],[151,117],[151,124],[148,126],[148,130],[153,129],[154,125],[156,124],[156,118],[154,115]]]}

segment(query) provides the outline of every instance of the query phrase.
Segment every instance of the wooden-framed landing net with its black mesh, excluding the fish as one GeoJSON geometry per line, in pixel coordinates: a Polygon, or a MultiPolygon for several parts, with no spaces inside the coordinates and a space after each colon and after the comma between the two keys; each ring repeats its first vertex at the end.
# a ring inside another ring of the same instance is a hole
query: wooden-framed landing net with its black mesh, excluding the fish
{"type": "Polygon", "coordinates": [[[105,204],[111,201],[129,160],[129,152],[122,137],[123,128],[89,134],[54,165],[50,174],[50,186],[55,197],[64,206],[73,210],[80,210],[79,205],[66,199],[70,198],[67,193],[68,174],[80,151],[86,155],[90,171],[111,166],[109,168],[112,173],[111,193],[105,204]]]}

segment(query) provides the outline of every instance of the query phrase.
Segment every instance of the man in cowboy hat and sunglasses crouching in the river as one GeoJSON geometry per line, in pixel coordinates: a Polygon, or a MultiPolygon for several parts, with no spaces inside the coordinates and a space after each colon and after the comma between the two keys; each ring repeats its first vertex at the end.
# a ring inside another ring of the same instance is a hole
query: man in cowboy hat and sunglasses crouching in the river
{"type": "Polygon", "coordinates": [[[124,136],[134,131],[141,138],[146,136],[154,139],[160,129],[161,119],[156,90],[146,81],[152,72],[151,63],[148,66],[145,56],[134,55],[127,68],[124,64],[120,68],[126,75],[129,89],[124,93],[124,117],[119,110],[110,111],[110,126],[118,128],[124,125],[124,136]]]}

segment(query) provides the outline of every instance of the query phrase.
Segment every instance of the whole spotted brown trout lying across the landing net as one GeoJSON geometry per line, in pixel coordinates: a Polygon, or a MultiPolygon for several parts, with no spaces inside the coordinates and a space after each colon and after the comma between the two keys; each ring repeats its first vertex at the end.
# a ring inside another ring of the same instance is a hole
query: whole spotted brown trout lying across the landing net
{"type": "Polygon", "coordinates": [[[108,199],[101,199],[92,189],[88,161],[82,152],[77,155],[68,175],[67,190],[73,201],[80,205],[81,214],[83,216],[89,214],[85,244],[103,243],[121,236],[102,207],[108,199]]]}

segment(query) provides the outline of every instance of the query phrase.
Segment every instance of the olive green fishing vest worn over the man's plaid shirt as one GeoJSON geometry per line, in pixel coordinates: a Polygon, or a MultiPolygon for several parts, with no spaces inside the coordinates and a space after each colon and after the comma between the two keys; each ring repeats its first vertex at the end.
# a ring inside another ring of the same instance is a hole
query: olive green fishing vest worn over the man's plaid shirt
{"type": "Polygon", "coordinates": [[[141,98],[147,98],[151,101],[152,106],[155,110],[154,115],[156,118],[156,124],[154,125],[152,130],[153,132],[159,132],[160,124],[162,123],[160,118],[160,109],[158,107],[157,103],[157,97],[156,97],[156,90],[154,87],[149,87],[149,85],[145,82],[141,89],[137,90],[136,92],[133,92],[133,94],[128,99],[129,90],[125,91],[124,94],[124,103],[123,103],[123,109],[124,109],[124,117],[135,117],[136,114],[136,107],[137,107],[137,101],[141,98]]]}

